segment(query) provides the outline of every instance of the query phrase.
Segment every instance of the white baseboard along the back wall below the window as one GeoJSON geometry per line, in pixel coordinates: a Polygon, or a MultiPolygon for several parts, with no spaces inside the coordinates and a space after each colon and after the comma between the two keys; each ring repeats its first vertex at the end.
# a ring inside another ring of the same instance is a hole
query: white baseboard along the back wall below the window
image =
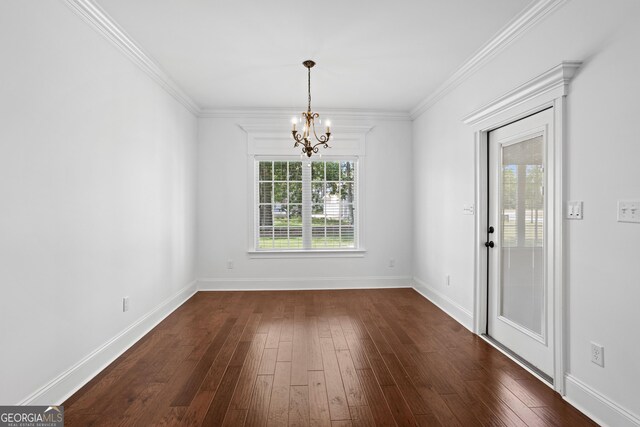
{"type": "Polygon", "coordinates": [[[293,291],[411,287],[408,276],[198,279],[199,291],[293,291]]]}

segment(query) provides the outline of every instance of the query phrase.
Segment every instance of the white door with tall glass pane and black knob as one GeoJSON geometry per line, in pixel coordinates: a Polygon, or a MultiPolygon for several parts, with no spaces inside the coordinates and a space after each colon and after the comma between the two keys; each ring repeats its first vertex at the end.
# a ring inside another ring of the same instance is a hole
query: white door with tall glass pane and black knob
{"type": "Polygon", "coordinates": [[[547,174],[553,109],[489,133],[487,333],[553,378],[547,174]]]}

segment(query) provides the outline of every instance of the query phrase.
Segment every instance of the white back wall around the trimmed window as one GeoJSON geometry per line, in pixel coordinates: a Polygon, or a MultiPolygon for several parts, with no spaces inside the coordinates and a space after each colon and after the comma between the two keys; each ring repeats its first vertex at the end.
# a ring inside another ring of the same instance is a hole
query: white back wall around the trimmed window
{"type": "MultiPolygon", "coordinates": [[[[322,111],[320,111],[322,113],[322,111]]],[[[362,258],[255,259],[247,250],[249,216],[247,133],[240,118],[200,120],[198,150],[198,277],[201,287],[300,288],[409,284],[411,277],[411,123],[371,122],[363,172],[366,254],[362,258]],[[389,267],[394,258],[395,267],[389,267]],[[227,260],[234,268],[227,269],[227,260]],[[262,278],[285,279],[264,283],[262,278]],[[290,281],[291,279],[301,279],[290,281]],[[327,278],[365,279],[327,281],[327,278]],[[206,279],[209,279],[207,281],[206,279]],[[210,279],[215,279],[212,282],[210,279]],[[289,280],[289,281],[287,281],[289,280]],[[318,280],[321,282],[319,283],[318,280]]],[[[332,118],[334,127],[340,119],[332,118]]],[[[282,120],[283,126],[288,120],[282,120]]],[[[339,144],[339,135],[336,135],[339,144]]],[[[292,146],[293,144],[291,144],[292,146]]],[[[297,156],[298,150],[291,148],[297,156]]],[[[329,151],[327,151],[327,154],[329,151]]]]}

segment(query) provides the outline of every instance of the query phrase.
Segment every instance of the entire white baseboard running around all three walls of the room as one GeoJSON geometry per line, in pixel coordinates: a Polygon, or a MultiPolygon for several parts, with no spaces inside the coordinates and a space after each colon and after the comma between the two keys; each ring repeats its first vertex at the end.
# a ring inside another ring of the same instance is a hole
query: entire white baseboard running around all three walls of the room
{"type": "MultiPolygon", "coordinates": [[[[469,330],[473,330],[470,311],[420,279],[406,276],[378,277],[302,277],[197,279],[167,298],[127,329],[84,357],[74,366],[23,399],[18,405],[59,405],[100,371],[146,335],[158,323],[191,298],[198,290],[322,290],[413,287],[469,330]]],[[[571,374],[565,375],[564,398],[578,410],[603,426],[640,427],[640,417],[617,405],[571,374]]]]}

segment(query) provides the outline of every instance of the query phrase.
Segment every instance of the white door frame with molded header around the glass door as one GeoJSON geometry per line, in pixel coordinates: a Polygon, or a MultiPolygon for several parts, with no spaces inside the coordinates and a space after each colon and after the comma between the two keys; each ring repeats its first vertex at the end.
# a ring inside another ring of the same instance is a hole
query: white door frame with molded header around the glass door
{"type": "MultiPolygon", "coordinates": [[[[547,142],[547,209],[549,224],[545,224],[549,244],[547,248],[546,279],[553,289],[551,308],[553,331],[553,388],[564,395],[565,392],[565,347],[566,347],[566,301],[564,288],[563,212],[564,212],[564,140],[566,137],[566,96],[569,82],[582,63],[563,61],[552,69],[531,79],[527,83],[490,102],[467,115],[462,120],[473,127],[475,140],[475,269],[473,332],[483,335],[487,331],[487,287],[488,259],[484,246],[489,218],[488,195],[488,149],[489,132],[549,107],[553,107],[553,123],[547,142]]],[[[519,363],[519,362],[518,362],[519,363]]],[[[525,367],[526,368],[526,367],[525,367]]],[[[528,368],[527,368],[528,369],[528,368]]]]}

